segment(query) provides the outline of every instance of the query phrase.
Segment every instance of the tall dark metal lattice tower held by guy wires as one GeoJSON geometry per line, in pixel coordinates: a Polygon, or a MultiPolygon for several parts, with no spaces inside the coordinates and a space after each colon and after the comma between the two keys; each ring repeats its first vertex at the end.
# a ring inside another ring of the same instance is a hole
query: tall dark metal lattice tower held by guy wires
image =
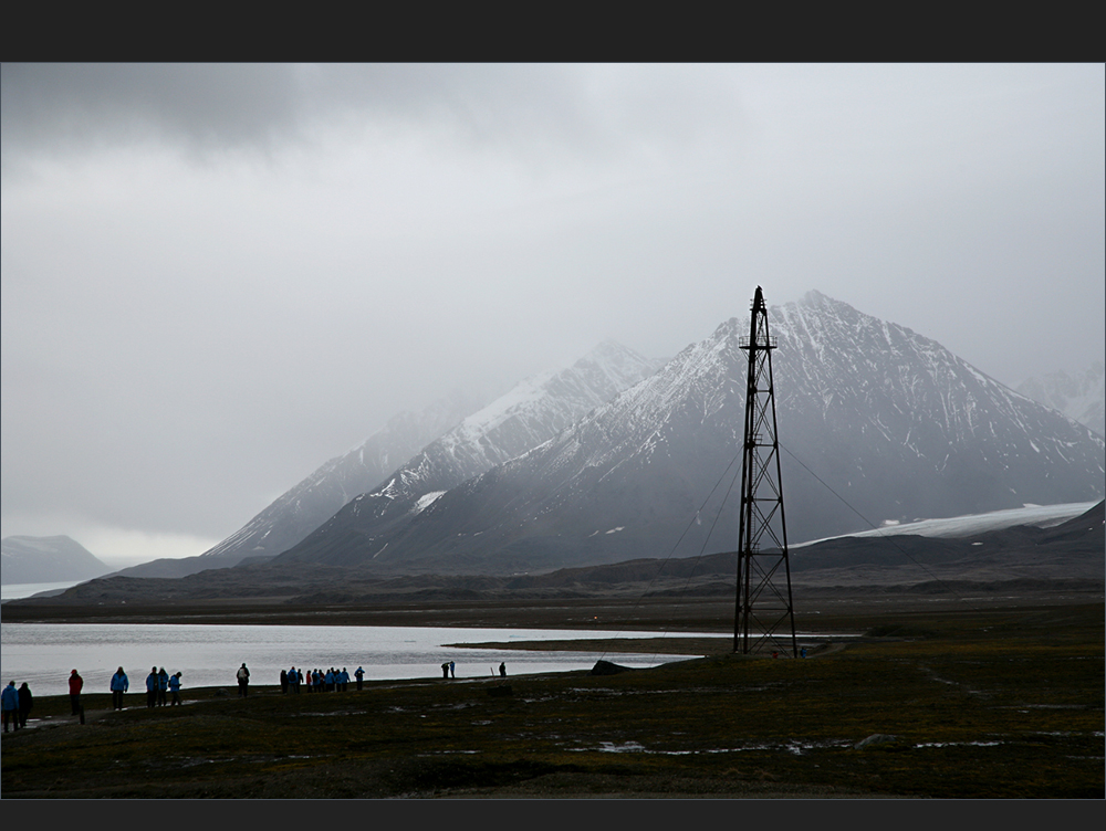
{"type": "Polygon", "coordinates": [[[749,379],[741,461],[733,651],[745,654],[790,651],[797,658],[772,386],[772,350],[776,344],[768,334],[768,308],[760,286],[753,297],[749,337],[742,337],[739,346],[749,353],[749,379]]]}

